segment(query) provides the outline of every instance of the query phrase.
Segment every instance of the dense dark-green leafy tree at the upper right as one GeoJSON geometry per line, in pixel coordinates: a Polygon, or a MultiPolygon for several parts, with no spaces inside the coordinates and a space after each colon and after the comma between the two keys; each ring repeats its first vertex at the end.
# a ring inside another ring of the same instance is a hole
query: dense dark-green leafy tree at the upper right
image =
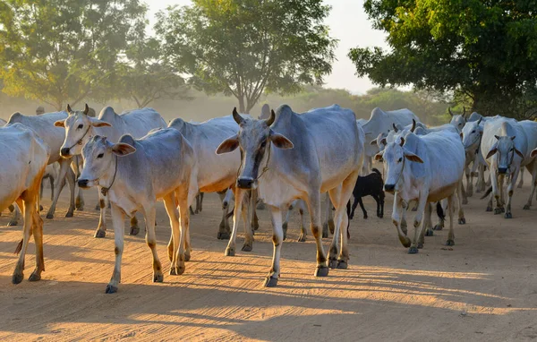
{"type": "Polygon", "coordinates": [[[532,101],[534,1],[366,0],[364,8],[373,27],[388,33],[390,49],[352,49],[358,76],[381,86],[458,92],[483,115],[519,116],[521,104],[532,101]]]}

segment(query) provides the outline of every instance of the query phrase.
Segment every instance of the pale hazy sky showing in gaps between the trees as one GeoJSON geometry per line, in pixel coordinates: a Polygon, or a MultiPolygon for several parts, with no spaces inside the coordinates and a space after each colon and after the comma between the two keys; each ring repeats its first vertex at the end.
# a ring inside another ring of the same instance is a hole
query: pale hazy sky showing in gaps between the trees
{"type": "MultiPolygon", "coordinates": [[[[154,14],[170,4],[190,4],[190,0],[153,0],[149,4],[151,25],[155,22],[154,14]]],[[[332,6],[327,19],[330,35],[339,39],[336,49],[337,61],[332,67],[332,74],[325,79],[330,88],[345,88],[354,93],[364,93],[373,85],[367,78],[354,75],[354,65],[346,56],[351,47],[386,47],[384,34],[371,29],[371,22],[363,12],[363,0],[325,0],[332,6]]]]}

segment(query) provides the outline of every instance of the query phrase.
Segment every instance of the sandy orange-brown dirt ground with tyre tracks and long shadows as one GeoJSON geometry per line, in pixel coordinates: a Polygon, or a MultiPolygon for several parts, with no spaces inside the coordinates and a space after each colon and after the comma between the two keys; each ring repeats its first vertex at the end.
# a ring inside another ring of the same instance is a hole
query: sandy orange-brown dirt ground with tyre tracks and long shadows
{"type": "MultiPolygon", "coordinates": [[[[0,339],[2,340],[530,340],[537,338],[537,203],[522,207],[529,194],[516,190],[513,219],[485,212],[476,195],[465,206],[467,224],[456,226],[456,245],[442,244],[447,230],[427,237],[409,255],[386,216],[374,218],[365,201],[351,225],[350,267],[314,278],[315,247],[309,232],[299,235],[294,213],[283,246],[276,288],[263,288],[272,244],[267,210],[253,252],[225,257],[218,241],[219,202],[206,195],[192,217],[192,261],[183,276],[169,276],[166,212],[158,208],[158,253],[164,283],[151,282],[151,258],[143,235],[125,237],[122,284],[105,295],[114,263],[114,233],[92,237],[98,223],[96,191],[86,193],[86,211],[64,218],[66,193],[54,220],[45,221],[43,279],[30,283],[34,246],[25,280],[11,284],[13,250],[21,227],[0,218],[0,339]]],[[[49,200],[43,203],[47,209],[49,200]]],[[[45,211],[46,212],[46,211],[45,211]]],[[[412,214],[411,214],[412,215],[412,214]]],[[[242,226],[241,226],[242,229],[242,226]]],[[[329,239],[324,239],[325,248],[329,239]]]]}

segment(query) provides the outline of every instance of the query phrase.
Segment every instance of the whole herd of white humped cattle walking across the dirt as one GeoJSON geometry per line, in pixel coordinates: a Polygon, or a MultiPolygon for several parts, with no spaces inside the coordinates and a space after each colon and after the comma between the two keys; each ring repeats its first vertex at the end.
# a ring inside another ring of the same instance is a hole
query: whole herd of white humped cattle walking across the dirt
{"type": "MultiPolygon", "coordinates": [[[[433,205],[439,216],[435,228],[443,227],[447,211],[447,245],[455,244],[455,199],[458,223],[465,224],[463,204],[473,195],[475,175],[476,192],[485,191],[490,182],[483,196],[490,193],[487,210],[505,213],[505,218],[513,217],[511,201],[523,167],[533,177],[532,192],[524,209],[532,205],[537,184],[537,123],[502,116],[466,115],[465,111],[454,115],[449,110],[450,124],[427,127],[408,109],[384,112],[375,108],[369,120],[356,120],[353,111],[337,105],[303,114],[294,113],[286,105],[276,111],[265,105],[257,119],[234,109],[232,115],[204,123],[187,123],[177,118],[166,124],[152,108],[117,115],[112,107],[105,107],[97,118],[89,113],[87,105],[83,111],[67,106],[63,112],[35,116],[15,113],[7,123],[2,123],[0,210],[16,203],[15,218],[10,224],[16,224],[19,208],[23,214],[23,238],[17,246],[21,254],[13,272],[14,284],[23,278],[24,256],[31,235],[36,244],[37,265],[30,281],[40,279],[44,270],[39,193],[47,176],[59,182],[47,218],[54,218],[65,181],[71,190],[66,217],[83,208],[80,189],[98,188],[100,218],[95,237],[106,236],[106,211],[110,205],[115,267],[107,293],[115,293],[121,280],[125,216],[131,218],[132,235],[140,230],[136,212],[145,219],[146,242],[153,257],[153,281],[163,281],[155,235],[158,200],[165,203],[172,230],[167,245],[169,273],[180,275],[185,270],[185,261],[191,257],[189,211],[196,200],[197,207],[200,206],[200,194],[218,192],[221,196],[223,212],[217,236],[229,238],[228,256],[235,252],[240,217],[244,222],[243,251],[251,251],[258,227],[255,204],[259,198],[268,206],[272,218],[274,244],[272,267],[264,286],[276,286],[291,206],[300,209],[302,218],[306,210],[309,212],[317,245],[315,276],[325,277],[330,268],[347,268],[349,214],[352,218],[360,203],[367,218],[362,196],[373,196],[378,203],[377,216],[381,218],[384,191],[393,193],[392,220],[399,240],[410,253],[415,253],[422,248],[424,236],[433,234],[433,205]],[[368,175],[373,159],[383,162],[385,181],[377,169],[368,175]],[[503,186],[506,179],[507,199],[503,186]],[[411,202],[415,211],[414,231],[408,235],[405,216],[411,202]],[[321,203],[326,206],[328,218],[322,227],[321,203]],[[227,224],[231,215],[233,227],[227,224]],[[333,238],[327,254],[321,237],[328,237],[328,227],[333,238]]],[[[299,241],[306,239],[304,226],[302,219],[299,241]]]]}

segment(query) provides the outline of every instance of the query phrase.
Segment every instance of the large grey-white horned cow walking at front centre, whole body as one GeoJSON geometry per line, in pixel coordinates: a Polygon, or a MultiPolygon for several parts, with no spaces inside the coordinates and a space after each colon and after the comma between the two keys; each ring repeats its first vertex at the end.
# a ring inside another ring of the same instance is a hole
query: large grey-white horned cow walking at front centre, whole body
{"type": "Polygon", "coordinates": [[[243,191],[258,189],[270,210],[274,255],[265,286],[276,286],[280,275],[283,242],[282,209],[302,199],[311,217],[311,232],[317,244],[318,277],[328,276],[328,267],[345,269],[348,262],[346,203],[353,192],[363,162],[363,141],[354,113],[337,105],[298,115],[286,105],[271,112],[268,120],[244,119],[234,109],[239,133],[223,141],[217,153],[241,148],[242,163],[235,193],[234,228],[226,252],[234,249],[237,212],[243,191]],[[273,127],[270,127],[274,123],[273,127]],[[320,197],[329,192],[336,207],[336,229],[327,257],[320,231],[320,197]],[[338,242],[341,233],[341,248],[338,242]]]}

